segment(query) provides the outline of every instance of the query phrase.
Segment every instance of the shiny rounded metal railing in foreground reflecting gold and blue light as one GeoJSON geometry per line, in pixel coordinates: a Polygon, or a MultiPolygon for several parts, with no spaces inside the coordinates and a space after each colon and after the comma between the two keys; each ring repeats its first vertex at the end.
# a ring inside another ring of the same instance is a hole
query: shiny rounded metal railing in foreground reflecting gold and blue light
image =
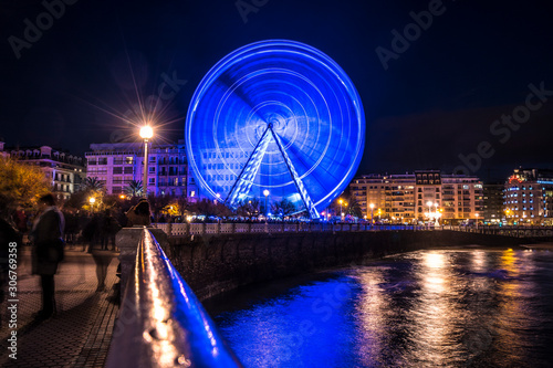
{"type": "Polygon", "coordinates": [[[146,228],[137,245],[106,367],[241,367],[146,228]]]}

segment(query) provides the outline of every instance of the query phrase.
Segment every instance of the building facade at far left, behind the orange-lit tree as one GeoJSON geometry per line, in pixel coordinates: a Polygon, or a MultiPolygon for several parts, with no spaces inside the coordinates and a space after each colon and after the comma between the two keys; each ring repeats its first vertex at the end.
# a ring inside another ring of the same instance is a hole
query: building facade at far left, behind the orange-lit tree
{"type": "MultiPolygon", "coordinates": [[[[1,145],[3,150],[3,144],[1,145]]],[[[52,185],[52,193],[58,200],[66,200],[80,189],[86,177],[86,168],[82,157],[70,155],[50,146],[6,148],[4,156],[18,161],[36,165],[45,174],[52,185]]]]}

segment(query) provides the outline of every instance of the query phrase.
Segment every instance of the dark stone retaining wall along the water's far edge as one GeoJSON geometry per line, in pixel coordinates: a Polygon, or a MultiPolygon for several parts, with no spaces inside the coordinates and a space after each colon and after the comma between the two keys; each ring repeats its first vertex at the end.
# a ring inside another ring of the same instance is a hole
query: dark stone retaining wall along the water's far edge
{"type": "Polygon", "coordinates": [[[532,242],[535,240],[457,231],[260,233],[174,236],[164,250],[198,298],[205,299],[251,283],[363,264],[387,254],[469,244],[513,248],[532,242]]]}

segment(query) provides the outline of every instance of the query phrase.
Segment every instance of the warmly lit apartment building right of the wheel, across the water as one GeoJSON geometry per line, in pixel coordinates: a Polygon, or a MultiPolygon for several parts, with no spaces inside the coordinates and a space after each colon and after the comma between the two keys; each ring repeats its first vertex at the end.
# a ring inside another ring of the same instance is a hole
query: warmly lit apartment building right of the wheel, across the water
{"type": "Polygon", "coordinates": [[[483,189],[477,177],[444,175],[439,170],[366,175],[355,178],[349,189],[364,218],[375,221],[415,223],[438,212],[442,223],[482,218],[483,189]]]}

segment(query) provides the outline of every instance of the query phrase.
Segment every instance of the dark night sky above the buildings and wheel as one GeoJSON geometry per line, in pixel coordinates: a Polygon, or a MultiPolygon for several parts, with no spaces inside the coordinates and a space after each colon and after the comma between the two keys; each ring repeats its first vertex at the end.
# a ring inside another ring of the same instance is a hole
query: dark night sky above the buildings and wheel
{"type": "Polygon", "coordinates": [[[330,55],[356,85],[367,123],[358,174],[451,171],[481,141],[494,149],[477,171],[484,180],[521,165],[553,168],[553,93],[504,143],[490,133],[524,106],[529,84],[553,91],[550,2],[445,0],[444,13],[384,70],[376,48],[390,50],[390,32],[434,1],[244,0],[265,2],[244,23],[236,0],[79,0],[17,59],[9,38],[24,39],[23,21],[35,24],[45,8],[0,0],[0,137],[83,154],[113,139],[126,127],[116,115],[176,73],[187,83],[160,117],[176,140],[194,90],[218,60],[254,41],[290,39],[330,55]]]}

